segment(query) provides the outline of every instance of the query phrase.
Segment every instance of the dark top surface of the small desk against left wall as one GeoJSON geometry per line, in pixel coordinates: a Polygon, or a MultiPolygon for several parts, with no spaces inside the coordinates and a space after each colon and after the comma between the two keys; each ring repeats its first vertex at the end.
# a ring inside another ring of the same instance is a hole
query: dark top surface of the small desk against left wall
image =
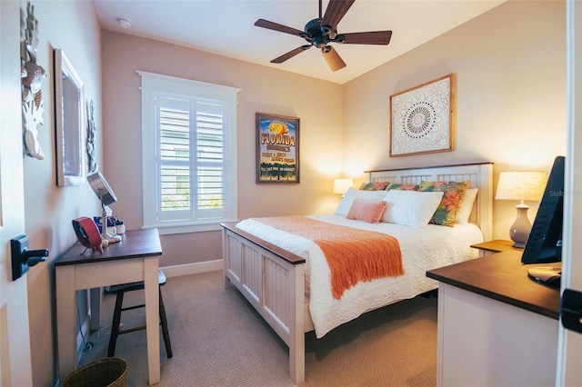
{"type": "Polygon", "coordinates": [[[109,243],[104,247],[103,254],[91,249],[85,251],[85,246],[75,243],[55,261],[55,266],[162,255],[162,245],[156,228],[129,230],[121,235],[121,238],[121,242],[109,243]]]}

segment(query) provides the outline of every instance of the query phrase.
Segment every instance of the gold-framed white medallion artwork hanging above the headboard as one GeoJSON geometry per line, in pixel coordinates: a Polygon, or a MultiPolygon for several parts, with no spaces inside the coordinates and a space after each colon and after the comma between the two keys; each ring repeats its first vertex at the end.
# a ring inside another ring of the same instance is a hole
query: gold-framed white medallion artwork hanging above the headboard
{"type": "Polygon", "coordinates": [[[390,95],[390,156],[455,150],[457,76],[390,95]]]}

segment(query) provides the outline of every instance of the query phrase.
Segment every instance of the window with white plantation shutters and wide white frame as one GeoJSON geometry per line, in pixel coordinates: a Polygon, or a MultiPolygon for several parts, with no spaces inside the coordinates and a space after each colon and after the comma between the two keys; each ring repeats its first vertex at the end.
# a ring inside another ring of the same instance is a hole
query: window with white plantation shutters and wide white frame
{"type": "Polygon", "coordinates": [[[238,89],[138,74],[144,227],[186,233],[236,220],[238,89]]]}

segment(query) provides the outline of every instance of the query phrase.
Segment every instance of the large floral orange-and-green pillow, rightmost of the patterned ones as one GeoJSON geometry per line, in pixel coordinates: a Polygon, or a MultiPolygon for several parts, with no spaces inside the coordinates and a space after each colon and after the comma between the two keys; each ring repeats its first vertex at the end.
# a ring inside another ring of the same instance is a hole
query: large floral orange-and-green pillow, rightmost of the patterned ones
{"type": "Polygon", "coordinates": [[[442,192],[443,199],[438,204],[437,211],[433,214],[430,223],[453,227],[455,217],[463,196],[467,192],[469,182],[422,182],[418,185],[420,192],[442,192]]]}

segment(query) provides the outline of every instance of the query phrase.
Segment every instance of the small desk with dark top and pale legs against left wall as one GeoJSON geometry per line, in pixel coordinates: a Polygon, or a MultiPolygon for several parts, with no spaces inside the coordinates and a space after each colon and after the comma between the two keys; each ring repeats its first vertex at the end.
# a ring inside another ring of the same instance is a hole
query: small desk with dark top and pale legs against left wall
{"type": "Polygon", "coordinates": [[[144,281],[149,383],[160,382],[157,270],[162,254],[157,229],[127,231],[103,254],[76,243],[55,262],[58,368],[61,381],[76,368],[76,291],[144,281]]]}

